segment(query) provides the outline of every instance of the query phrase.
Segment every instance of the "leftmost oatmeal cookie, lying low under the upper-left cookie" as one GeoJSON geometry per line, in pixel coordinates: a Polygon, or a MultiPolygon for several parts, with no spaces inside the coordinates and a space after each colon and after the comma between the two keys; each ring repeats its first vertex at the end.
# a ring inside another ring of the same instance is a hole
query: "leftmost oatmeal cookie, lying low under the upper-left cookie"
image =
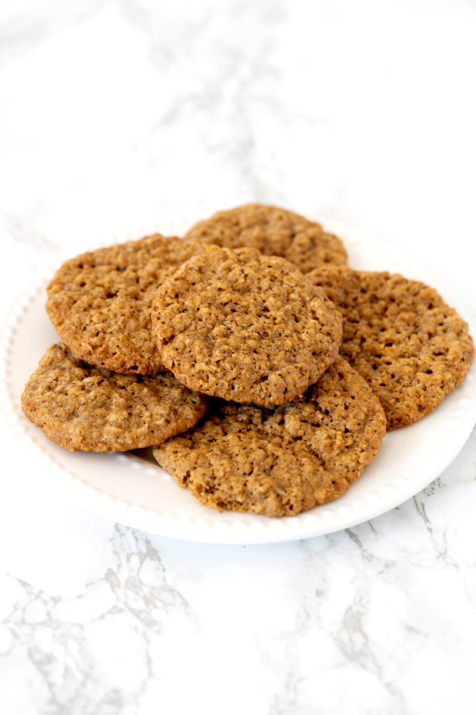
{"type": "Polygon", "coordinates": [[[21,409],[66,449],[117,452],[188,430],[207,403],[170,373],[111,373],[87,365],[59,343],[48,348],[26,383],[21,409]]]}

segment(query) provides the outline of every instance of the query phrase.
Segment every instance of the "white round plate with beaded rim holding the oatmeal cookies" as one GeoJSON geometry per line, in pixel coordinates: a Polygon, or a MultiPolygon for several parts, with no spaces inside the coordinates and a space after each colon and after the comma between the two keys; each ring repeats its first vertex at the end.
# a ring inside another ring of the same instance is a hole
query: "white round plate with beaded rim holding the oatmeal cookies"
{"type": "MultiPolygon", "coordinates": [[[[402,260],[383,240],[364,232],[334,221],[324,225],[342,237],[352,267],[401,272],[424,280],[466,317],[457,301],[442,285],[436,285],[418,262],[409,262],[408,257],[402,260]]],[[[125,239],[114,237],[102,245],[119,240],[125,239]]],[[[416,494],[442,473],[471,433],[476,421],[474,369],[433,413],[386,435],[377,459],[339,499],[281,519],[219,513],[201,505],[158,467],[150,450],[107,455],[68,452],[34,427],[21,413],[19,403],[24,383],[39,358],[57,341],[44,311],[44,289],[54,270],[70,255],[57,256],[39,272],[6,319],[0,337],[0,405],[16,437],[46,468],[45,488],[55,492],[65,489],[75,501],[105,518],[163,536],[215,543],[290,541],[331,533],[389,511],[416,494]]]]}

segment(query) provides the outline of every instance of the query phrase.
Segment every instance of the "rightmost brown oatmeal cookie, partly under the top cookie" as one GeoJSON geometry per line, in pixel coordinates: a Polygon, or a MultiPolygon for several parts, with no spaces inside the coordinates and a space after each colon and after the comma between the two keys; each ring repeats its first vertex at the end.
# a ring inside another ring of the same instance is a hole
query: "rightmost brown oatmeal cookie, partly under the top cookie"
{"type": "Polygon", "coordinates": [[[389,429],[434,410],[465,378],[475,356],[468,325],[434,288],[344,267],[307,277],[343,315],[341,355],[374,390],[389,429]]]}

